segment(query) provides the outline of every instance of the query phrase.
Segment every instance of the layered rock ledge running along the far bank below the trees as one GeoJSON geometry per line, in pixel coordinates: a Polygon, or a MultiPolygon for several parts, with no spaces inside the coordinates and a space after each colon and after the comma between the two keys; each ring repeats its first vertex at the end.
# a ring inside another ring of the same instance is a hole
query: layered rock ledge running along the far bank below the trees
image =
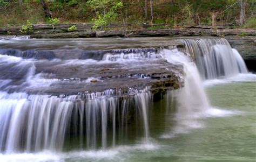
{"type": "Polygon", "coordinates": [[[32,30],[21,32],[22,27],[0,28],[0,36],[30,35],[31,38],[94,38],[94,37],[186,37],[186,36],[256,36],[253,29],[233,29],[232,26],[181,25],[140,25],[125,28],[112,24],[104,30],[92,30],[92,24],[48,24],[31,25],[32,30]],[[71,26],[76,29],[68,30],[71,26]],[[107,29],[107,30],[106,30],[107,29]]]}

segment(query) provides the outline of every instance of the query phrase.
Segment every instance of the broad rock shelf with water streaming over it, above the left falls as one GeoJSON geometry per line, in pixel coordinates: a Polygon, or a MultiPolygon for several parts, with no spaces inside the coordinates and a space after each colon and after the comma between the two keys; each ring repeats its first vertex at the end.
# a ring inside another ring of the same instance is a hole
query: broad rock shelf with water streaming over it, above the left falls
{"type": "Polygon", "coordinates": [[[1,89],[56,96],[113,89],[125,96],[129,88],[151,87],[157,96],[182,87],[183,66],[167,62],[159,51],[183,45],[154,40],[8,40],[0,44],[1,59],[6,59],[1,89]],[[139,48],[129,48],[135,44],[139,48]]]}

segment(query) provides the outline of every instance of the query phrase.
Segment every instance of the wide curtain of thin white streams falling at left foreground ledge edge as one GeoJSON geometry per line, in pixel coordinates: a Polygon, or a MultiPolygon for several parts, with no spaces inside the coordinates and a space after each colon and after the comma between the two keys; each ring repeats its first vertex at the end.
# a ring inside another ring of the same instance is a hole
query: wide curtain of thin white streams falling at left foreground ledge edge
{"type": "MultiPolygon", "coordinates": [[[[144,136],[149,138],[147,109],[151,93],[130,89],[130,97],[117,97],[116,91],[105,90],[84,96],[57,97],[27,95],[25,93],[0,93],[0,149],[7,153],[16,151],[62,150],[65,140],[79,137],[79,146],[96,149],[107,147],[107,129],[112,130],[112,145],[116,143],[116,127],[126,126],[132,107],[143,121],[144,136]],[[122,105],[122,107],[119,107],[122,105]],[[118,118],[121,117],[121,118],[118,118]],[[112,128],[108,128],[112,123],[112,128]]],[[[130,114],[131,115],[131,114],[130,114]]],[[[123,133],[124,134],[124,133],[123,133]]]]}

